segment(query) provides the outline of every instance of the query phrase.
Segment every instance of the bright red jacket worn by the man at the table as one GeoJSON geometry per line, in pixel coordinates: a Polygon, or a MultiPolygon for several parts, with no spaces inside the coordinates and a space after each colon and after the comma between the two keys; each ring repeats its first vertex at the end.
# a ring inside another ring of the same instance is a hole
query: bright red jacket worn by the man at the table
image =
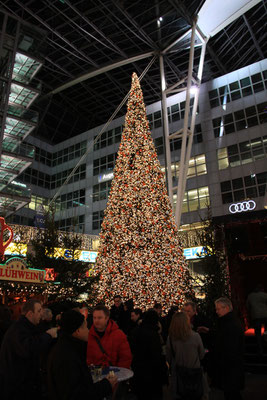
{"type": "Polygon", "coordinates": [[[87,345],[87,364],[130,368],[132,354],[126,335],[119,329],[116,322],[109,320],[105,333],[99,337],[92,325],[87,345]],[[97,344],[96,338],[102,344],[105,354],[97,344]]]}

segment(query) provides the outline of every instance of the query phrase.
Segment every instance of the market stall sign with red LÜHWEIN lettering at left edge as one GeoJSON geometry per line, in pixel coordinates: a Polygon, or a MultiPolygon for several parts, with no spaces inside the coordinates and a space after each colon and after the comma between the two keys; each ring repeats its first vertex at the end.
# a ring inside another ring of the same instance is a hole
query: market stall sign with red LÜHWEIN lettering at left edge
{"type": "Polygon", "coordinates": [[[0,264],[0,280],[28,283],[45,283],[45,271],[28,268],[24,260],[12,257],[0,264]]]}

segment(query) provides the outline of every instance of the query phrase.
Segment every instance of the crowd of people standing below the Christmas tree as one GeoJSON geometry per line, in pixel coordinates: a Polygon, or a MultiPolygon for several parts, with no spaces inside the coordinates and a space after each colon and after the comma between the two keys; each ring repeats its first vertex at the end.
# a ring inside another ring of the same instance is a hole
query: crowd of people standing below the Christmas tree
{"type": "Polygon", "coordinates": [[[163,316],[159,303],[143,312],[116,295],[110,309],[99,304],[85,317],[79,308],[53,315],[31,299],[13,322],[2,306],[1,398],[162,400],[169,385],[173,400],[208,399],[210,386],[225,400],[241,399],[244,331],[228,298],[215,300],[215,310],[216,328],[190,301],[163,316]],[[107,369],[97,382],[95,366],[107,369]],[[134,375],[118,383],[111,366],[134,375]]]}

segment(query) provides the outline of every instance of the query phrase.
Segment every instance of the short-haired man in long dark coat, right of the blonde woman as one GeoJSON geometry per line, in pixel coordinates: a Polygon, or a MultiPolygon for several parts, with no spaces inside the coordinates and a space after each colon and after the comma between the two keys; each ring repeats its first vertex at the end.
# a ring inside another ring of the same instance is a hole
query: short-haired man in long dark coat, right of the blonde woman
{"type": "Polygon", "coordinates": [[[225,400],[240,400],[244,388],[244,332],[228,298],[215,301],[219,317],[213,351],[213,384],[225,400]]]}

